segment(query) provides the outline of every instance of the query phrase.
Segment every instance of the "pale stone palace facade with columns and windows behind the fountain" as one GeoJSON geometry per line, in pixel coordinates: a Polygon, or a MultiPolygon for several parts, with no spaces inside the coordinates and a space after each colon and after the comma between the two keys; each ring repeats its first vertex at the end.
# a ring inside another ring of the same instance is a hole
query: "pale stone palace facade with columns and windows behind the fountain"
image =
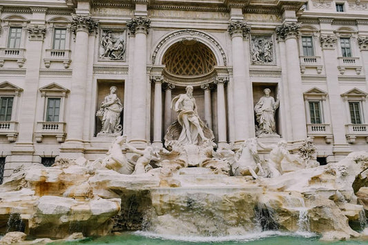
{"type": "Polygon", "coordinates": [[[368,148],[366,0],[0,7],[0,179],[24,163],[97,159],[121,134],[162,149],[177,118],[171,100],[186,86],[218,147],[257,136],[293,150],[309,136],[321,162],[368,148]],[[265,88],[277,104],[270,135],[255,115],[265,88]],[[117,105],[113,129],[101,125],[106,101],[117,105]]]}

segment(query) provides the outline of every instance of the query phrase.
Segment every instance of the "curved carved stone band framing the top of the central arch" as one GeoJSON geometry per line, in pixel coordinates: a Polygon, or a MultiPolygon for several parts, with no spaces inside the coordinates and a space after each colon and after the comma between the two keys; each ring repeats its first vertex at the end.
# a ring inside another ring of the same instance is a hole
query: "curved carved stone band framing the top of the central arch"
{"type": "Polygon", "coordinates": [[[212,37],[210,37],[209,35],[206,35],[203,32],[199,32],[197,30],[191,30],[191,29],[186,29],[186,30],[180,30],[177,32],[173,32],[170,35],[164,37],[164,39],[162,39],[156,46],[155,50],[153,51],[153,55],[151,58],[152,63],[155,63],[156,61],[156,57],[157,57],[157,53],[159,52],[159,49],[162,48],[162,46],[164,45],[164,43],[166,43],[166,41],[172,39],[173,37],[177,37],[180,35],[191,35],[191,36],[200,36],[203,37],[205,39],[207,39],[208,41],[210,41],[211,43],[213,43],[213,45],[216,46],[217,50],[219,50],[219,52],[221,53],[222,56],[222,60],[224,61],[224,66],[226,66],[226,54],[224,52],[224,50],[222,49],[222,47],[220,46],[220,43],[218,43],[215,39],[213,39],[212,37]]]}

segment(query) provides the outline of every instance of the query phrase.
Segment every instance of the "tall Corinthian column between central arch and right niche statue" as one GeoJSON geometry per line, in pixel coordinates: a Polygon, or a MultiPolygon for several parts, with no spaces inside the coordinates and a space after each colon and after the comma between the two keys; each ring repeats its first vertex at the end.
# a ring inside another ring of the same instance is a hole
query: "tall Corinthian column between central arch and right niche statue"
{"type": "MultiPolygon", "coordinates": [[[[251,98],[251,83],[246,73],[246,55],[243,39],[249,38],[251,28],[244,21],[229,23],[228,32],[231,35],[231,52],[233,57],[233,95],[234,95],[234,121],[235,121],[235,144],[254,135],[249,130],[250,117],[253,110],[248,111],[245,105],[249,104],[247,99],[251,98]]],[[[219,127],[220,128],[220,127],[219,127]]],[[[254,131],[254,129],[253,129],[254,131]]],[[[235,146],[236,147],[236,146],[235,146]]]]}

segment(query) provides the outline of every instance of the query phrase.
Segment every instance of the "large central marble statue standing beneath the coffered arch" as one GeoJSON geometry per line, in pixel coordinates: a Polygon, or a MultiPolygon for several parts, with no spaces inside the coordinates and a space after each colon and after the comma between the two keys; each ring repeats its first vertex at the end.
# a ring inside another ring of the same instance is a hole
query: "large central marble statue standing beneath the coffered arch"
{"type": "Polygon", "coordinates": [[[177,112],[177,121],[168,127],[165,145],[203,145],[213,141],[213,133],[207,128],[197,113],[197,104],[193,97],[193,87],[187,86],[186,93],[177,95],[171,102],[171,108],[177,112]]]}

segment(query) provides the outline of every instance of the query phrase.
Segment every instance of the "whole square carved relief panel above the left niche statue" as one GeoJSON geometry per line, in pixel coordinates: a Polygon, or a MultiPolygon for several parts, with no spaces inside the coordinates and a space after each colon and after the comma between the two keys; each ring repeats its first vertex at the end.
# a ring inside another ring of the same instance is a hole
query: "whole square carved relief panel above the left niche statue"
{"type": "Polygon", "coordinates": [[[124,61],[126,57],[125,40],[125,30],[102,30],[99,43],[99,59],[124,61]]]}

